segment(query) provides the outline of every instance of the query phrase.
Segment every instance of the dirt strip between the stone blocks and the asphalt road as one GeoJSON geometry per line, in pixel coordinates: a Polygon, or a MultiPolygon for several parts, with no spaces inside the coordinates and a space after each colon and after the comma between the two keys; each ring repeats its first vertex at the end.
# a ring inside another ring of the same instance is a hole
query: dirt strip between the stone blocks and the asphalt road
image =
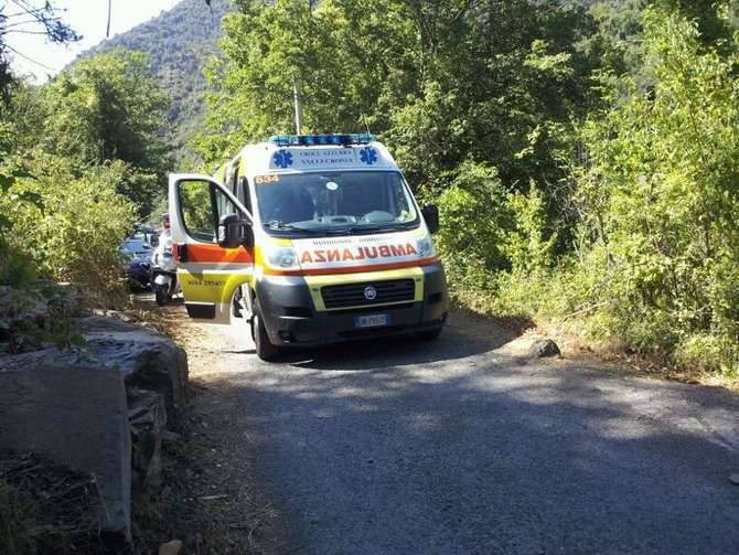
{"type": "Polygon", "coordinates": [[[254,474],[255,449],[247,433],[234,433],[239,415],[219,386],[223,329],[194,323],[178,302],[158,309],[141,296],[137,306],[156,311],[158,325],[185,348],[190,395],[179,437],[164,445],[164,490],[135,501],[136,549],[157,553],[180,540],[186,554],[283,553],[280,519],[254,474]]]}

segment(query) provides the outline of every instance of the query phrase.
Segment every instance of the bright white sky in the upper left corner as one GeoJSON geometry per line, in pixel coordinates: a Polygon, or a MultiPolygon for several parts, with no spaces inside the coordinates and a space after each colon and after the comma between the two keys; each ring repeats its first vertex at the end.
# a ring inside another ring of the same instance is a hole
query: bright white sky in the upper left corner
{"type": "MultiPolygon", "coordinates": [[[[169,10],[180,0],[113,0],[113,19],[110,38],[159,15],[169,10]]],[[[3,2],[0,2],[0,6],[3,2]]],[[[8,2],[8,13],[12,13],[13,4],[8,2]]],[[[33,3],[41,4],[42,0],[33,3]]],[[[36,34],[10,33],[6,36],[8,45],[30,60],[13,52],[13,70],[23,75],[33,75],[38,83],[43,83],[50,75],[55,75],[81,52],[94,46],[105,39],[108,23],[108,0],[52,0],[60,9],[63,20],[72,25],[83,40],[68,46],[49,44],[36,34]],[[66,11],[62,11],[66,10],[66,11]]],[[[24,28],[29,31],[31,28],[24,28]]]]}

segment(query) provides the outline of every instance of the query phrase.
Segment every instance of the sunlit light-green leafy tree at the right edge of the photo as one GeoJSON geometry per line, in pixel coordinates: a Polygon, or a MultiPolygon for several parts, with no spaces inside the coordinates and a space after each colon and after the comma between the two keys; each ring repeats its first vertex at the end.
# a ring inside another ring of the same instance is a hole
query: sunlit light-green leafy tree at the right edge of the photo
{"type": "Polygon", "coordinates": [[[684,359],[700,345],[693,362],[736,371],[739,44],[706,47],[678,10],[650,9],[644,21],[654,87],[622,77],[611,109],[585,128],[582,232],[586,249],[606,256],[581,258],[603,276],[607,332],[684,359]]]}

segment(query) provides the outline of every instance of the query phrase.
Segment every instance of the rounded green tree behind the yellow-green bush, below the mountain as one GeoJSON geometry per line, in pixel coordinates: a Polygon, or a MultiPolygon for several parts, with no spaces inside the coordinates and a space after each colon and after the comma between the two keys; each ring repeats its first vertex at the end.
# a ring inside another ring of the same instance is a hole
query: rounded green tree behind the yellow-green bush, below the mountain
{"type": "Polygon", "coordinates": [[[169,99],[146,55],[115,51],[83,60],[43,96],[44,150],[83,167],[126,162],[118,191],[147,213],[170,158],[163,130],[169,99]]]}

